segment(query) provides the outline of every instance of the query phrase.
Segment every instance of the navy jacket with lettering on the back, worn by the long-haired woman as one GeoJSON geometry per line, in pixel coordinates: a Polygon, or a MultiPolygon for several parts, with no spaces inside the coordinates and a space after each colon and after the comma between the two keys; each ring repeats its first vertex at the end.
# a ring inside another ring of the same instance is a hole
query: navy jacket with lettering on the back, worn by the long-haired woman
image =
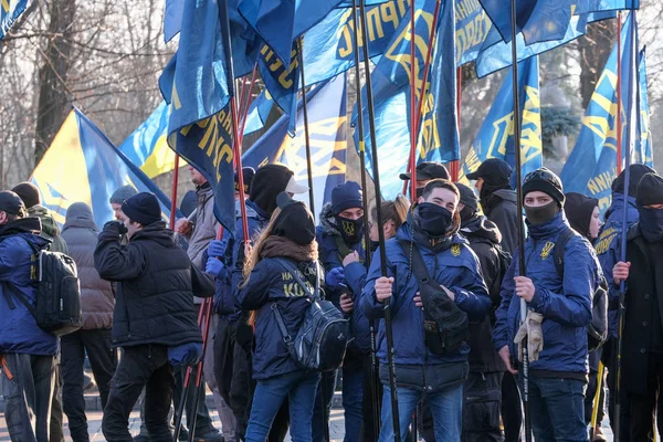
{"type": "MultiPolygon", "coordinates": [[[[314,291],[316,267],[312,262],[297,263],[299,277],[314,291]]],[[[264,257],[251,271],[246,285],[238,291],[238,303],[244,311],[257,311],[255,318],[255,347],[253,350],[253,379],[267,379],[299,371],[291,357],[278,328],[273,307],[276,306],[291,337],[295,337],[304,314],[311,305],[304,291],[294,282],[275,259],[264,257]]]]}

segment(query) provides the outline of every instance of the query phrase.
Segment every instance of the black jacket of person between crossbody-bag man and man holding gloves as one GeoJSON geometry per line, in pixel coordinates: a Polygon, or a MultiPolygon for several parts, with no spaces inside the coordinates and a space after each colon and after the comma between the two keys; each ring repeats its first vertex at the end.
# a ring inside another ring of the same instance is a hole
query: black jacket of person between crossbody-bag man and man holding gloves
{"type": "MultiPolygon", "coordinates": [[[[499,306],[499,287],[502,276],[506,273],[504,260],[501,259],[499,243],[502,233],[494,222],[485,217],[472,217],[461,224],[461,234],[470,242],[481,263],[481,274],[488,287],[488,295],[493,301],[493,312],[499,306]]],[[[502,252],[504,253],[504,252],[502,252]]],[[[470,371],[471,372],[495,372],[505,371],[506,367],[493,346],[491,314],[482,322],[470,322],[470,371]]]]}

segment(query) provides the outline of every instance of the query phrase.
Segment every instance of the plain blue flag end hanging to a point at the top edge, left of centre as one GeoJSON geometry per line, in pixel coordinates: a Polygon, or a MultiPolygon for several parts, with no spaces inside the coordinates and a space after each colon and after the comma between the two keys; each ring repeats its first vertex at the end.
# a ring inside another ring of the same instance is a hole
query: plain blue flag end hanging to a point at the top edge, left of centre
{"type": "Polygon", "coordinates": [[[295,40],[329,13],[340,0],[243,0],[239,10],[283,64],[290,64],[295,40]]]}

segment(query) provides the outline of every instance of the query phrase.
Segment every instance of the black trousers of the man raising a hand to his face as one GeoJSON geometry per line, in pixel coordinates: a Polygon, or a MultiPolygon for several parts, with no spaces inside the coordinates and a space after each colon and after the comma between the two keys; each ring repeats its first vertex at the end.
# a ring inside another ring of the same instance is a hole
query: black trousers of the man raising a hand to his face
{"type": "Polygon", "coordinates": [[[172,382],[166,346],[125,347],[104,410],[102,430],[106,440],[133,442],[129,414],[145,387],[145,424],[149,438],[152,442],[172,441],[168,425],[172,382]]]}

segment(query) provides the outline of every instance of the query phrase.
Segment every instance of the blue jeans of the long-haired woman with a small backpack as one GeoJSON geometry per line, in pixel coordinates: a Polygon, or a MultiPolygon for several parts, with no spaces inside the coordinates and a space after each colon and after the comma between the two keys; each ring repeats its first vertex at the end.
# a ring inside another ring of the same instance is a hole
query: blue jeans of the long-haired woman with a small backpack
{"type": "Polygon", "coordinates": [[[253,393],[245,441],[264,442],[281,404],[288,399],[292,441],[311,442],[313,402],[319,380],[319,373],[308,371],[293,371],[259,380],[253,393]]]}

